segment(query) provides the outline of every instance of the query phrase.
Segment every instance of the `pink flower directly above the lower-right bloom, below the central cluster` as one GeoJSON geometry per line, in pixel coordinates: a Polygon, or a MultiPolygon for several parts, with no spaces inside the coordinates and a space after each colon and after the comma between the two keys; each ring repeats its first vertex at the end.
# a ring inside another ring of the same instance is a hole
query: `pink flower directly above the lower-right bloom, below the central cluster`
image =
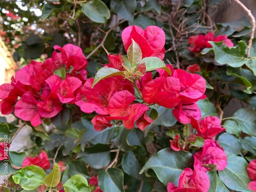
{"type": "Polygon", "coordinates": [[[197,135],[204,139],[212,139],[218,133],[225,131],[221,126],[221,120],[216,116],[207,116],[200,121],[191,119],[190,123],[197,129],[197,135]]]}

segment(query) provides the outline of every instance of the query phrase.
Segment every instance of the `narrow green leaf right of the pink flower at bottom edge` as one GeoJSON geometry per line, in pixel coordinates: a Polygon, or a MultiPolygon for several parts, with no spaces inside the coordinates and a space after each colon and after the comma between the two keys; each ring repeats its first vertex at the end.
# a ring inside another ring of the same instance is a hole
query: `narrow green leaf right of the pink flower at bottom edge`
{"type": "MultiPolygon", "coordinates": [[[[213,165],[213,164],[212,164],[213,165]]],[[[224,183],[220,180],[217,170],[216,170],[216,165],[214,170],[210,170],[207,172],[207,175],[210,179],[210,188],[208,192],[229,192],[228,188],[224,185],[224,183]]]]}

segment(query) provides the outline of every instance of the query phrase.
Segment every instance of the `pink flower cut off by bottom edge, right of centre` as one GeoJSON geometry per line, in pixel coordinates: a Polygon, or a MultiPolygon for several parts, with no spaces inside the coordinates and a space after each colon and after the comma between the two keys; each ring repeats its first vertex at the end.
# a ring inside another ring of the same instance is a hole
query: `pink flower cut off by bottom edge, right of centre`
{"type": "Polygon", "coordinates": [[[168,192],[207,192],[210,188],[210,180],[201,170],[185,168],[180,175],[179,186],[168,183],[168,192]]]}

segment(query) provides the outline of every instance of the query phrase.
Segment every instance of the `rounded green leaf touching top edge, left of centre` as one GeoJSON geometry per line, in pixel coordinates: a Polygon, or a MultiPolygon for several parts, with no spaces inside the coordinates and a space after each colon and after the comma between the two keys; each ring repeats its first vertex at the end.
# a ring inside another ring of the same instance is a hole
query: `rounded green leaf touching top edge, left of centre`
{"type": "Polygon", "coordinates": [[[96,23],[104,24],[106,19],[110,18],[110,10],[101,0],[92,0],[82,4],[82,12],[96,23]]]}

